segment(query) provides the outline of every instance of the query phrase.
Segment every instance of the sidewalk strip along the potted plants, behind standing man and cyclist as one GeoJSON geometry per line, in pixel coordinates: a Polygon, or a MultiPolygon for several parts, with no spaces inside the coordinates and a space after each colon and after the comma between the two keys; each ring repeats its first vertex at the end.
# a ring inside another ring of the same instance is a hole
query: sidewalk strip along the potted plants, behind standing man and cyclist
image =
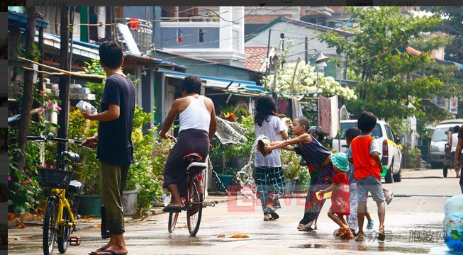
{"type": "MultiPolygon", "coordinates": [[[[228,200],[236,200],[235,196],[207,196],[204,200],[207,202],[227,203],[228,200]]],[[[144,220],[149,220],[152,215],[159,215],[164,213],[163,208],[150,208],[147,212],[147,217],[144,220]]],[[[130,225],[137,222],[136,218],[131,216],[125,217],[125,224],[130,225]]],[[[8,239],[9,241],[29,239],[34,237],[41,237],[43,235],[43,221],[30,221],[24,222],[26,227],[18,228],[11,227],[8,229],[8,239]]],[[[92,217],[92,218],[81,218],[76,220],[77,230],[90,229],[90,228],[99,228],[101,224],[101,217],[92,217]]]]}

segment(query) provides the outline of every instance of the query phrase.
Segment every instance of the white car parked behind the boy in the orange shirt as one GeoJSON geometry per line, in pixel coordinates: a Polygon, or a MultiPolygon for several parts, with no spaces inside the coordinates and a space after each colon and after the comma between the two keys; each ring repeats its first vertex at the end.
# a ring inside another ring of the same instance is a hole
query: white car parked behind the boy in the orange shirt
{"type": "MultiPolygon", "coordinates": [[[[341,137],[339,135],[333,139],[333,149],[337,152],[345,152],[348,148],[345,142],[345,132],[349,128],[357,127],[357,120],[341,120],[341,137]],[[339,149],[339,141],[341,149],[339,149]]],[[[394,135],[391,127],[384,121],[378,120],[376,127],[371,134],[378,140],[379,147],[381,148],[381,163],[386,166],[388,171],[384,176],[386,183],[393,181],[399,182],[402,179],[402,152],[400,139],[394,135]]]]}

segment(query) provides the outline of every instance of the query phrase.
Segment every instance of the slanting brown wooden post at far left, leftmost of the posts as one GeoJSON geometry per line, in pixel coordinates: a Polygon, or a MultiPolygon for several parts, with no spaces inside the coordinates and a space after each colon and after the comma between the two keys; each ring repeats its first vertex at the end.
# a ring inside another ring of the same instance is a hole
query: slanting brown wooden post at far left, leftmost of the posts
{"type": "MultiPolygon", "coordinates": [[[[35,7],[26,8],[28,12],[28,22],[26,26],[26,55],[33,53],[33,43],[35,38],[35,22],[37,22],[37,9],[35,7]]],[[[22,149],[24,153],[16,153],[14,161],[18,164],[17,169],[22,172],[24,169],[25,154],[27,152],[27,135],[30,128],[30,110],[33,103],[33,81],[34,72],[24,71],[24,90],[23,90],[23,105],[21,106],[21,119],[19,120],[18,131],[18,149],[22,149]]]]}

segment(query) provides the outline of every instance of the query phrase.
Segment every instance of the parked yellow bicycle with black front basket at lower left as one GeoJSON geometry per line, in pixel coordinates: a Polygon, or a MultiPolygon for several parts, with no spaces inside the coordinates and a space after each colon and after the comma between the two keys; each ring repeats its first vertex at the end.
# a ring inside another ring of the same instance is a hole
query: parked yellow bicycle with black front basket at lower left
{"type": "MultiPolygon", "coordinates": [[[[33,142],[58,142],[65,144],[76,144],[82,146],[82,141],[55,138],[52,133],[45,136],[28,136],[33,142]]],[[[84,147],[90,149],[88,147],[84,147]]],[[[80,237],[72,237],[71,234],[77,231],[74,224],[74,201],[69,194],[79,196],[82,190],[82,183],[72,181],[74,172],[67,170],[69,159],[77,163],[80,160],[79,154],[74,152],[61,152],[57,155],[56,169],[39,168],[38,182],[44,188],[51,188],[51,194],[45,202],[45,215],[43,217],[43,254],[51,255],[57,242],[58,251],[65,253],[69,245],[79,246],[80,237]],[[62,169],[59,169],[61,164],[62,169]],[[67,193],[68,192],[68,193],[67,193]],[[69,199],[69,200],[68,200],[69,199]]],[[[77,203],[77,207],[79,203],[77,203]]],[[[76,209],[77,210],[77,209],[76,209]]]]}

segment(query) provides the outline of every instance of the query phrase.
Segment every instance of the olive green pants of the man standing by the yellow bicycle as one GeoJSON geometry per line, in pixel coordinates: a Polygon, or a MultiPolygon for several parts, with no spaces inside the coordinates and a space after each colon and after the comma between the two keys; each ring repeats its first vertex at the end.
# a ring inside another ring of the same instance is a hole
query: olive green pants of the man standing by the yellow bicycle
{"type": "Polygon", "coordinates": [[[101,199],[106,208],[107,229],[111,234],[123,234],[125,230],[122,193],[130,165],[118,166],[100,162],[100,166],[101,199]]]}

